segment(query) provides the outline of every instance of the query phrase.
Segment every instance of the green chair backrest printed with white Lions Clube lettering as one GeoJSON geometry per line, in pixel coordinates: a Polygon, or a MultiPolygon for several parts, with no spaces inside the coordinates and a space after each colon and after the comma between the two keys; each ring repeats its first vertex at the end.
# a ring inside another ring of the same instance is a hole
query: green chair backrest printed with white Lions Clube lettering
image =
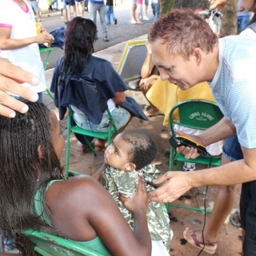
{"type": "Polygon", "coordinates": [[[170,130],[175,135],[174,124],[196,130],[206,130],[223,117],[222,111],[215,102],[202,99],[189,99],[178,102],[170,110],[170,130]],[[178,110],[179,119],[174,120],[173,113],[178,110]]]}

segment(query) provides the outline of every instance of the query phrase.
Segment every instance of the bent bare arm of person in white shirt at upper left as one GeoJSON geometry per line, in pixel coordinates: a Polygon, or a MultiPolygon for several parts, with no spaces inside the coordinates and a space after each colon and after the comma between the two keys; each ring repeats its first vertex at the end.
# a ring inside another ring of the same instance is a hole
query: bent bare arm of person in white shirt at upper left
{"type": "Polygon", "coordinates": [[[13,50],[29,46],[32,43],[47,43],[48,46],[54,42],[54,37],[46,32],[42,32],[34,37],[14,39],[10,38],[11,29],[8,27],[0,27],[0,49],[13,50]]]}

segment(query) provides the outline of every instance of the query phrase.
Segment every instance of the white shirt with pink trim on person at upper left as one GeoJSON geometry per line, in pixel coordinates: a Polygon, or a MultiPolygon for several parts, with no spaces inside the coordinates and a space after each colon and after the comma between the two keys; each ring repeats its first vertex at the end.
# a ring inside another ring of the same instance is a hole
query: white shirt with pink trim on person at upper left
{"type": "MultiPolygon", "coordinates": [[[[15,0],[1,0],[0,26],[10,28],[10,38],[21,39],[36,36],[34,12],[26,0],[26,8],[20,6],[15,0]]],[[[16,66],[35,74],[40,79],[38,86],[23,83],[35,92],[46,90],[45,70],[39,53],[37,43],[30,44],[14,50],[2,50],[1,57],[9,59],[16,66]]]]}

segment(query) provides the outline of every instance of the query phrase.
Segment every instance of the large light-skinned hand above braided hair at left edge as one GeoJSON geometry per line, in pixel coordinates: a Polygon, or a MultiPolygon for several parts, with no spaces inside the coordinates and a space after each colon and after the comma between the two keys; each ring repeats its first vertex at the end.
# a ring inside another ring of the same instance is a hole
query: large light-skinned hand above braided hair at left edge
{"type": "Polygon", "coordinates": [[[21,86],[20,83],[23,82],[36,86],[39,80],[33,74],[0,58],[0,114],[3,116],[14,118],[14,110],[20,113],[26,113],[28,110],[26,104],[11,97],[7,92],[26,98],[31,102],[38,101],[38,94],[21,86]]]}

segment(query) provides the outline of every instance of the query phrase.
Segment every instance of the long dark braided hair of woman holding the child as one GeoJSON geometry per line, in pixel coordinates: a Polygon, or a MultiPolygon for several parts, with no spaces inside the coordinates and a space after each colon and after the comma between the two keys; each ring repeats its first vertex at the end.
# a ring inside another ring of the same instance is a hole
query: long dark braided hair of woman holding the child
{"type": "Polygon", "coordinates": [[[51,143],[52,113],[40,102],[22,102],[29,106],[26,114],[17,113],[15,118],[0,115],[0,230],[35,229],[58,234],[54,226],[38,217],[34,199],[40,188],[42,211],[50,219],[46,186],[50,180],[62,178],[51,143]]]}

